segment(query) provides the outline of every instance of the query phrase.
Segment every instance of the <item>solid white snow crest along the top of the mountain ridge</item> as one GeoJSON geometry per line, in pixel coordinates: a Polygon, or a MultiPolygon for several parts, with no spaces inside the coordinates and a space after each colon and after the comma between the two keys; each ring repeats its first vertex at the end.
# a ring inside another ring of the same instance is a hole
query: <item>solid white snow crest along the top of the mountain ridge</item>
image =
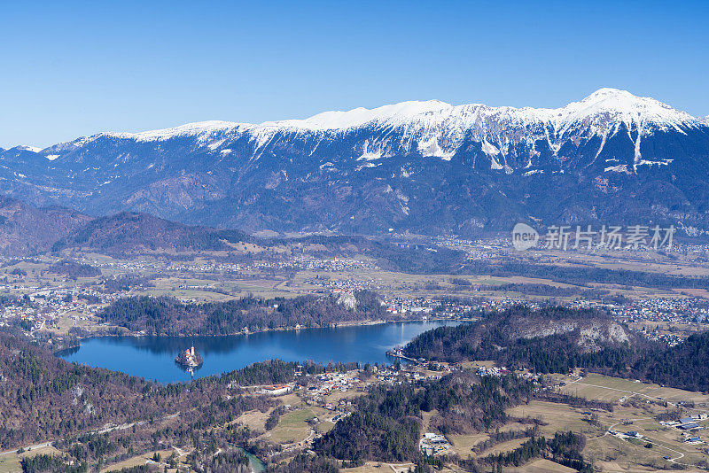
{"type": "MultiPolygon", "coordinates": [[[[558,136],[577,123],[588,123],[593,132],[604,133],[604,125],[624,123],[627,128],[680,129],[697,127],[701,119],[674,110],[651,97],[635,97],[626,90],[599,89],[580,102],[557,109],[490,107],[481,104],[449,105],[439,100],[410,101],[375,109],[355,108],[347,112],[323,112],[304,120],[267,121],[260,125],[230,121],[202,121],[175,128],[139,133],[105,133],[82,138],[80,143],[100,136],[129,138],[138,141],[164,141],[178,136],[214,133],[259,133],[274,129],[308,131],[347,131],[364,126],[415,126],[419,128],[464,128],[483,132],[486,125],[506,122],[515,128],[532,129],[539,125],[552,128],[558,136]]],[[[40,150],[41,151],[41,150],[40,150]]]]}

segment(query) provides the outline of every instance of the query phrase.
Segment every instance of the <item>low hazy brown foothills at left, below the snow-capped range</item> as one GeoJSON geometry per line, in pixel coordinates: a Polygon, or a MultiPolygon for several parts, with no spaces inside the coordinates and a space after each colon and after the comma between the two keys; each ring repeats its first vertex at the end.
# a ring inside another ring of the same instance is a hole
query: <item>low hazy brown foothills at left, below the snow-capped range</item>
{"type": "Polygon", "coordinates": [[[444,273],[464,260],[446,248],[401,248],[364,236],[305,236],[266,239],[234,229],[191,226],[146,213],[92,217],[61,207],[36,208],[0,197],[0,254],[27,256],[74,249],[129,256],[144,252],[233,251],[236,243],[261,250],[287,250],[320,257],[369,256],[381,268],[409,273],[444,273]]]}

